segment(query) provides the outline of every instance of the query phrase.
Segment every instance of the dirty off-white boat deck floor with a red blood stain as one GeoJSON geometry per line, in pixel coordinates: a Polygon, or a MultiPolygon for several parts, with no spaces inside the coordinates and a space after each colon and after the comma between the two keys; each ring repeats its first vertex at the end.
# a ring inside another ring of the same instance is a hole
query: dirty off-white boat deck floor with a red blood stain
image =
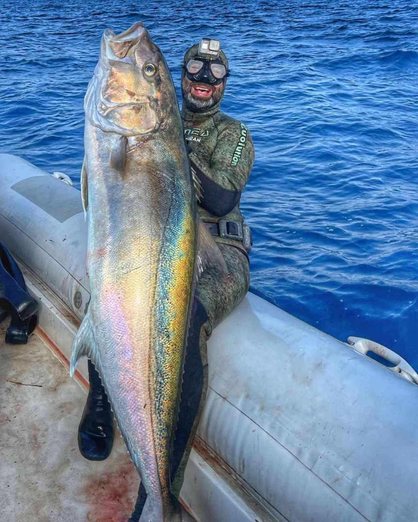
{"type": "Polygon", "coordinates": [[[6,345],[8,324],[0,324],[0,520],[126,522],[139,479],[122,438],[107,460],[84,459],[85,390],[36,334],[6,345]]]}

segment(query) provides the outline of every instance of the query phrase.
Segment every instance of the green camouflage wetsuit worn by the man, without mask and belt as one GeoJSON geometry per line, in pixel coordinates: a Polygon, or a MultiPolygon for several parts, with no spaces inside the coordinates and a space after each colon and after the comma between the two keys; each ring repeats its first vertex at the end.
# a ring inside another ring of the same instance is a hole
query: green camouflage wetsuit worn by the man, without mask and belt
{"type": "MultiPolygon", "coordinates": [[[[197,47],[189,49],[185,60],[193,56],[197,47]]],[[[247,127],[220,112],[219,105],[220,100],[209,110],[195,112],[183,101],[181,110],[191,167],[201,186],[198,209],[205,222],[227,219],[242,223],[239,200],[251,172],[254,147],[247,127]]],[[[171,492],[177,497],[207,392],[206,341],[212,329],[244,298],[250,280],[248,255],[242,243],[215,235],[213,238],[224,255],[229,274],[207,268],[196,288],[171,465],[171,492]]],[[[141,487],[130,521],[139,520],[145,499],[141,487]]]]}

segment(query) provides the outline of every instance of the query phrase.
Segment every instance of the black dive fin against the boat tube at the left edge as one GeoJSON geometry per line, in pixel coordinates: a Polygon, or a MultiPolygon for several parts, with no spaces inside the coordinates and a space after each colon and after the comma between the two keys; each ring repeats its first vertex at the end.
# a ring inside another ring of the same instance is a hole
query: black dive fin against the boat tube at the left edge
{"type": "Polygon", "coordinates": [[[38,303],[26,291],[22,272],[9,251],[0,242],[0,320],[11,315],[6,342],[26,345],[37,325],[38,303]]]}

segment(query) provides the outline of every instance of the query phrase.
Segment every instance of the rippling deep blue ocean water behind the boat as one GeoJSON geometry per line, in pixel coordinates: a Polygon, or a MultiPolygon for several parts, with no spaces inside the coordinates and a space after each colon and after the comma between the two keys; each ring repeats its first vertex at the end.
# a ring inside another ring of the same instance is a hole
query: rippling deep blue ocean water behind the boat
{"type": "Polygon", "coordinates": [[[177,88],[184,50],[219,39],[223,110],[256,146],[241,204],[252,285],[418,368],[417,17],[400,0],[0,0],[0,151],[78,182],[103,30],[143,21],[177,88]]]}

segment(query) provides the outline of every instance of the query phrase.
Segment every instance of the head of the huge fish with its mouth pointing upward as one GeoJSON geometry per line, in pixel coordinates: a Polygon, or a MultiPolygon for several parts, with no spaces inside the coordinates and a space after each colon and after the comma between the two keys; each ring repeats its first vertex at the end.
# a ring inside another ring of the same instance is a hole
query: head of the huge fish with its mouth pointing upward
{"type": "Polygon", "coordinates": [[[106,29],[85,98],[89,121],[105,132],[137,136],[166,125],[177,98],[159,48],[141,22],[115,35],[106,29]]]}

